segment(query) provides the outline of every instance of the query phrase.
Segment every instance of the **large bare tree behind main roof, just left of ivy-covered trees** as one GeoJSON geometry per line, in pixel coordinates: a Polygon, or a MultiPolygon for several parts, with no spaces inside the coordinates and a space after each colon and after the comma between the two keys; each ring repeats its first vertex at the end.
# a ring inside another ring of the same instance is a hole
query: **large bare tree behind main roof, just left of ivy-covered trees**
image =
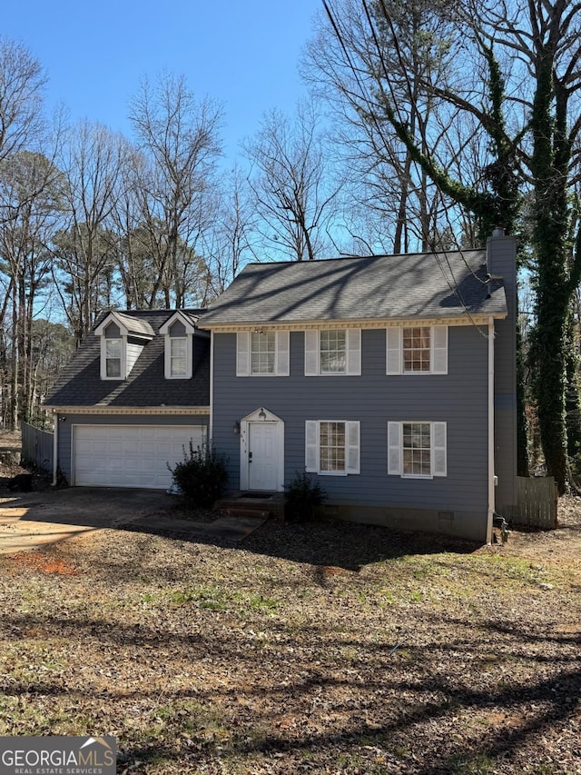
{"type": "MultiPolygon", "coordinates": [[[[381,109],[381,94],[389,89],[396,112],[422,153],[444,168],[455,164],[458,149],[446,144],[447,134],[461,133],[462,147],[470,141],[473,126],[458,126],[458,111],[438,103],[427,84],[448,81],[461,40],[449,0],[385,0],[373,7],[380,5],[389,8],[391,24],[381,23],[378,13],[370,29],[359,0],[333,4],[340,36],[335,35],[333,17],[321,15],[303,74],[333,109],[335,143],[350,170],[351,213],[356,216],[351,231],[363,221],[367,231],[375,231],[367,243],[380,243],[393,253],[428,250],[438,243],[439,233],[449,229],[450,201],[442,200],[438,186],[400,142],[381,109]]],[[[460,216],[461,209],[457,211],[460,216]]]]}

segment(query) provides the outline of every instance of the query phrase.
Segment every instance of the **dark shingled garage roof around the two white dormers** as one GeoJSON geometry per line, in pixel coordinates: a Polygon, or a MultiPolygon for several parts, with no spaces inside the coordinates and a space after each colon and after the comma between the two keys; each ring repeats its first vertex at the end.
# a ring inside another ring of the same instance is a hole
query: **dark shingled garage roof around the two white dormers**
{"type": "MultiPolygon", "coordinates": [[[[45,406],[208,406],[210,404],[210,341],[207,333],[193,337],[193,377],[190,380],[166,380],[164,377],[164,337],[159,329],[175,311],[123,311],[134,322],[133,331],[154,334],[145,343],[126,380],[101,379],[101,337],[93,332],[64,367],[54,388],[44,400],[45,406]]],[[[184,310],[192,323],[202,310],[184,310]]],[[[108,313],[107,313],[108,314],[108,313]]],[[[104,319],[104,314],[97,325],[104,319]]],[[[96,327],[96,325],[95,325],[96,327]]]]}

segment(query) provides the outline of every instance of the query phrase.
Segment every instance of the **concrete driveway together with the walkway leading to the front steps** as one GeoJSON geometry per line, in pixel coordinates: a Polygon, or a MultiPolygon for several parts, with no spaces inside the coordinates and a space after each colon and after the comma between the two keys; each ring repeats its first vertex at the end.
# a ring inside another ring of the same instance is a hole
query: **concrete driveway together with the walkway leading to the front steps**
{"type": "Polygon", "coordinates": [[[37,549],[80,533],[123,528],[183,540],[240,542],[263,519],[218,516],[213,522],[179,519],[174,495],[162,490],[70,487],[0,497],[0,554],[37,549]]]}

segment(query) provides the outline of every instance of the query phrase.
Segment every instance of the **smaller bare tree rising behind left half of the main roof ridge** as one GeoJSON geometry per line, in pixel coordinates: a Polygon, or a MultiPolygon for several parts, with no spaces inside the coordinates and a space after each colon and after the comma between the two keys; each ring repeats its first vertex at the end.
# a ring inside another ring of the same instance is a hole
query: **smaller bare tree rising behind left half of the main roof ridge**
{"type": "Polygon", "coordinates": [[[340,190],[330,179],[319,123],[312,102],[299,104],[294,120],[274,109],[244,144],[265,243],[297,261],[320,257],[330,244],[340,190]]]}

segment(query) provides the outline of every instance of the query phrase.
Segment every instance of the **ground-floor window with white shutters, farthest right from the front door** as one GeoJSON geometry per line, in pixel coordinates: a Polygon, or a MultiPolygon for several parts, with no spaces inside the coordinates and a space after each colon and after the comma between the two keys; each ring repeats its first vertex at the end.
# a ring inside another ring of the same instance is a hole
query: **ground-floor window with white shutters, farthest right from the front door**
{"type": "Polygon", "coordinates": [[[388,422],[388,473],[431,479],[447,475],[446,422],[388,422]]]}

